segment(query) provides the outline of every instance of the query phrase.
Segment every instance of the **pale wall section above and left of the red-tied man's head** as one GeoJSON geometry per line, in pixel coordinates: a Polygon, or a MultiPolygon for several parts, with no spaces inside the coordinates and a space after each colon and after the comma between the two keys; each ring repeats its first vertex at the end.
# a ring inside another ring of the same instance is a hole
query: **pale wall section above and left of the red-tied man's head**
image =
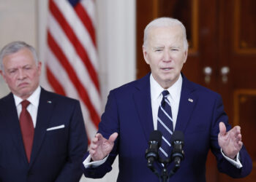
{"type": "MultiPolygon", "coordinates": [[[[37,48],[35,7],[35,0],[0,0],[0,49],[15,40],[26,40],[37,48]]],[[[0,98],[8,92],[0,76],[0,98]]]]}

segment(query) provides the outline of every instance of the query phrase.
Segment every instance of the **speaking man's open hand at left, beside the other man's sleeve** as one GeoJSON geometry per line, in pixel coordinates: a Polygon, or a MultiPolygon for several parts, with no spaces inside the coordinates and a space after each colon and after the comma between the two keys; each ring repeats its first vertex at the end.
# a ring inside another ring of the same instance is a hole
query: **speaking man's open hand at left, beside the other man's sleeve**
{"type": "Polygon", "coordinates": [[[89,153],[91,154],[91,159],[93,161],[102,160],[108,154],[110,154],[110,151],[112,151],[114,146],[114,141],[116,141],[116,138],[118,136],[117,132],[114,132],[108,140],[102,136],[102,134],[97,133],[95,137],[91,141],[89,153]]]}

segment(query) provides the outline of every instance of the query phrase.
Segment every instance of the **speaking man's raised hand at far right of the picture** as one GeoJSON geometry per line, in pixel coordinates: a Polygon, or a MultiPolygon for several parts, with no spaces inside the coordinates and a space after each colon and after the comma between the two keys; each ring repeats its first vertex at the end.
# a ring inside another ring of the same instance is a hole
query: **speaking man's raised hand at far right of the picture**
{"type": "Polygon", "coordinates": [[[224,154],[231,159],[235,159],[236,155],[243,146],[241,127],[233,127],[227,132],[225,124],[220,122],[218,142],[224,154]]]}

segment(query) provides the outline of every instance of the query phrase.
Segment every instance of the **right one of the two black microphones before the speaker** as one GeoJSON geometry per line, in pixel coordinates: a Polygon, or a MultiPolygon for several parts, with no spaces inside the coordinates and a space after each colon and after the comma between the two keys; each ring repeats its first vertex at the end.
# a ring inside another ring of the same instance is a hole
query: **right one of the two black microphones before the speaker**
{"type": "Polygon", "coordinates": [[[173,146],[173,151],[171,154],[172,160],[176,167],[180,167],[181,160],[184,159],[184,134],[181,131],[174,131],[171,139],[171,143],[173,146]]]}

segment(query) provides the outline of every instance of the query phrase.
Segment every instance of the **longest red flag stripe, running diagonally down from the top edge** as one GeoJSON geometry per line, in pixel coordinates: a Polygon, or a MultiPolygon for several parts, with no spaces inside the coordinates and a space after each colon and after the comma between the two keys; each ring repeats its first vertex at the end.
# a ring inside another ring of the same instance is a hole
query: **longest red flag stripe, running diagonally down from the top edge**
{"type": "Polygon", "coordinates": [[[86,50],[83,49],[82,44],[78,40],[77,36],[75,36],[74,31],[72,30],[70,25],[67,23],[64,16],[61,14],[61,12],[59,11],[58,7],[53,2],[53,0],[49,1],[49,8],[52,15],[56,18],[56,20],[59,22],[59,25],[61,25],[61,28],[63,29],[63,31],[66,33],[69,41],[72,42],[81,60],[83,60],[83,63],[85,64],[87,71],[89,72],[89,75],[91,77],[91,80],[94,82],[94,85],[99,92],[99,80],[97,77],[97,73],[94,69],[94,66],[92,66],[91,64],[91,61],[89,60],[86,50]]]}

